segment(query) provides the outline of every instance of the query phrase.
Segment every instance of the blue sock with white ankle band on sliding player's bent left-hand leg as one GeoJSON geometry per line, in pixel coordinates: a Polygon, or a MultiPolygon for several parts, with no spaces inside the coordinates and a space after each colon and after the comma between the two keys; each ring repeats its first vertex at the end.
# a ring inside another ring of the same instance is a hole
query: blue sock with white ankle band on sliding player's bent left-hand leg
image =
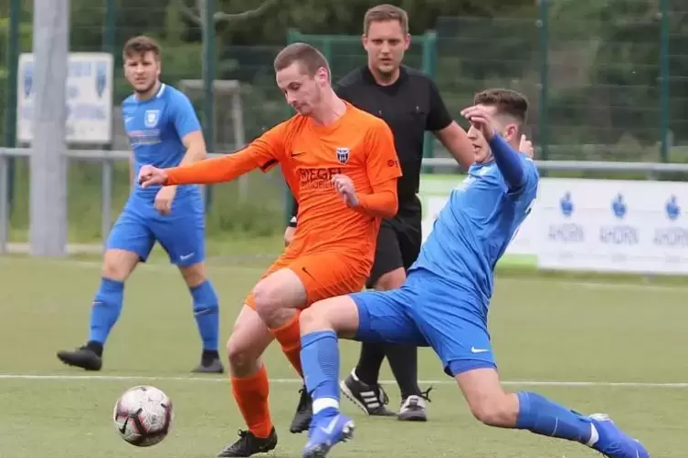
{"type": "Polygon", "coordinates": [[[313,399],[313,415],[339,411],[339,342],[332,330],[301,338],[301,364],[306,389],[313,399]]]}

